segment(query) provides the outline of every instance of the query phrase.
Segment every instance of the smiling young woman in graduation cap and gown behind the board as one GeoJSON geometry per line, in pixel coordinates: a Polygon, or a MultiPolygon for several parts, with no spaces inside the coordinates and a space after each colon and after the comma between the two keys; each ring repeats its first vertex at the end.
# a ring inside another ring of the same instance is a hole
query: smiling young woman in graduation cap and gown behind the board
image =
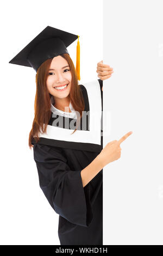
{"type": "Polygon", "coordinates": [[[19,53],[23,64],[20,56],[10,63],[28,60],[36,70],[29,147],[41,190],[59,214],[60,245],[103,245],[103,167],[120,158],[120,143],[130,133],[103,149],[102,81],[111,68],[98,63],[102,80],[78,84],[66,49],[70,36],[77,39],[48,26],[19,53]]]}

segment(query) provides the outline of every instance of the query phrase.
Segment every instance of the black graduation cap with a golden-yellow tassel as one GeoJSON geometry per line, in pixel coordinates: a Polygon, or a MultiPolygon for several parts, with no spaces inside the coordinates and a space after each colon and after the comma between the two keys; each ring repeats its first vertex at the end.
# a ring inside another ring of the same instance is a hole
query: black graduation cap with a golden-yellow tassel
{"type": "MultiPolygon", "coordinates": [[[[80,80],[80,45],[79,36],[57,28],[47,26],[29,44],[23,48],[9,63],[30,66],[37,72],[45,60],[68,53],[67,48],[78,38],[76,71],[80,80]]],[[[68,53],[69,54],[69,53],[68,53]]],[[[69,54],[70,55],[70,54],[69,54]]]]}

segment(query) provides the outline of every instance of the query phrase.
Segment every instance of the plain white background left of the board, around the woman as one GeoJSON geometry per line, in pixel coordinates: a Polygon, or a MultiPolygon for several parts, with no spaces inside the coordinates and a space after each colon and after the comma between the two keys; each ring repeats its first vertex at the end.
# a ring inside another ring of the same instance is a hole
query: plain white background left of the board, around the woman
{"type": "MultiPolygon", "coordinates": [[[[9,64],[47,26],[79,35],[80,83],[98,79],[103,57],[102,1],[3,1],[1,5],[2,245],[60,245],[58,218],[39,186],[28,147],[35,70],[9,64]],[[85,2],[85,3],[84,3],[85,2]]],[[[76,66],[77,40],[68,52],[76,66]]]]}

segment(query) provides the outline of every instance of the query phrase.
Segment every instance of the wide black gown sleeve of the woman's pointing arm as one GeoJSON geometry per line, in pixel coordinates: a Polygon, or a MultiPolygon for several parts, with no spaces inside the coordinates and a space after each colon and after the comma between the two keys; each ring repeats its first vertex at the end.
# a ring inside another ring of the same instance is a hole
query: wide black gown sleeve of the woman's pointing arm
{"type": "Polygon", "coordinates": [[[71,170],[60,148],[36,143],[33,151],[41,190],[54,211],[71,223],[89,227],[93,213],[82,169],[71,170]]]}

